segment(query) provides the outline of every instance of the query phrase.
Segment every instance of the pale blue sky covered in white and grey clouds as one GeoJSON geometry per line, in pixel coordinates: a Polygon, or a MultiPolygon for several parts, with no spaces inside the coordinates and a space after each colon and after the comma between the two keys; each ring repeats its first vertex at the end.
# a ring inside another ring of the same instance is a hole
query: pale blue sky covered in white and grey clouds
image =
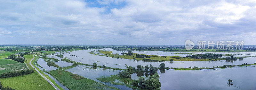
{"type": "Polygon", "coordinates": [[[0,44],[256,45],[256,1],[1,0],[0,44]]]}

